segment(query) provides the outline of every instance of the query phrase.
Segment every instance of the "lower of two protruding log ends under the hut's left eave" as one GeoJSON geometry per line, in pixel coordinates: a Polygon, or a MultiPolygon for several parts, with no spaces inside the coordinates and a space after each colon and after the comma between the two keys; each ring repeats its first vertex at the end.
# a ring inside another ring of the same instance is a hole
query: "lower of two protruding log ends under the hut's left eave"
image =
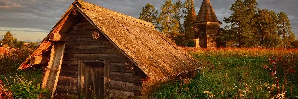
{"type": "Polygon", "coordinates": [[[39,64],[46,64],[49,62],[49,58],[47,56],[32,56],[30,58],[30,64],[31,65],[39,65],[39,64]]]}

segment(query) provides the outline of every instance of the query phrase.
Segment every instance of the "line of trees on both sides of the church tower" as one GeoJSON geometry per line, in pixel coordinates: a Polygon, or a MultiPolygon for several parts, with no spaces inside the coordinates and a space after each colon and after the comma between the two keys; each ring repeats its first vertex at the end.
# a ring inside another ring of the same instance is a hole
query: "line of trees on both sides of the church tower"
{"type": "MultiPolygon", "coordinates": [[[[221,33],[222,40],[230,46],[295,48],[298,40],[292,32],[288,15],[276,14],[257,8],[256,0],[237,0],[232,4],[231,16],[224,18],[227,24],[221,33]]],[[[139,19],[151,22],[156,28],[180,46],[194,46],[192,41],[198,32],[193,0],[181,2],[166,0],[158,11],[148,3],[142,8],[139,19]],[[184,21],[183,23],[181,21],[184,21]]]]}

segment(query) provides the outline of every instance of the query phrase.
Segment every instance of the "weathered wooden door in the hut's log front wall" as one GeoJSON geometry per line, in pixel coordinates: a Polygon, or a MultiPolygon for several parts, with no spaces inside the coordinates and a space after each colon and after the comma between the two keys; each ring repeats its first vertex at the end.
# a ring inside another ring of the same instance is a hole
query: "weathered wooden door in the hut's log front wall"
{"type": "Polygon", "coordinates": [[[94,95],[99,99],[105,97],[103,62],[82,62],[79,68],[79,76],[81,95],[84,95],[86,99],[93,99],[94,95]]]}

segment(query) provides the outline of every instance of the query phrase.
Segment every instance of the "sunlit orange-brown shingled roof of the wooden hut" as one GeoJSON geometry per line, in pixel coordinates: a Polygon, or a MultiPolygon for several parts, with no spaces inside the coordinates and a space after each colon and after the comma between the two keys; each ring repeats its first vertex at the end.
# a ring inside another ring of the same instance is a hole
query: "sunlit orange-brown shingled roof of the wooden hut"
{"type": "MultiPolygon", "coordinates": [[[[81,0],[76,0],[72,6],[152,79],[160,80],[195,71],[201,66],[149,22],[81,0]]],[[[49,45],[46,41],[44,39],[43,43],[49,45]]],[[[29,67],[28,60],[19,69],[29,67]]]]}

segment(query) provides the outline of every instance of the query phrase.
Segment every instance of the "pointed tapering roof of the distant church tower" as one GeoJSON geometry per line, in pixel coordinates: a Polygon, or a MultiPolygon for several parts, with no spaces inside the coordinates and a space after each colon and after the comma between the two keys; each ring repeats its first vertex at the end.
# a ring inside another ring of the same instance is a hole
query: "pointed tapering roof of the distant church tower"
{"type": "Polygon", "coordinates": [[[203,0],[200,11],[197,15],[197,22],[218,21],[209,0],[203,0]]]}

